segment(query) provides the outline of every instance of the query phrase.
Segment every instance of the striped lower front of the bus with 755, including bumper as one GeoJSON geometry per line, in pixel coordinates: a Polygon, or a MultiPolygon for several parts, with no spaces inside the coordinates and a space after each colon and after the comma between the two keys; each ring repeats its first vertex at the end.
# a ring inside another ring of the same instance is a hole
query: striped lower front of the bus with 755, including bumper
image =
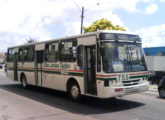
{"type": "Polygon", "coordinates": [[[148,72],[130,72],[117,74],[97,74],[98,97],[111,98],[133,93],[144,92],[149,89],[148,72]],[[128,79],[120,76],[128,76],[128,79]],[[115,81],[111,82],[111,79],[115,81]],[[109,80],[108,86],[104,82],[109,80]],[[117,82],[118,81],[118,82],[117,82]],[[129,85],[130,84],[130,85],[129,85]]]}

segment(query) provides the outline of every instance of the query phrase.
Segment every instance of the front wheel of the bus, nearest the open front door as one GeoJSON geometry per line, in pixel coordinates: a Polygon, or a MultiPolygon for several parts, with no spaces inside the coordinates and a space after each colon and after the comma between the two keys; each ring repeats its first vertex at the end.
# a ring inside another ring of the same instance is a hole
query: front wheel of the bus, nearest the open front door
{"type": "Polygon", "coordinates": [[[81,101],[81,91],[78,83],[71,82],[68,87],[69,87],[68,88],[69,97],[73,101],[81,101]]]}

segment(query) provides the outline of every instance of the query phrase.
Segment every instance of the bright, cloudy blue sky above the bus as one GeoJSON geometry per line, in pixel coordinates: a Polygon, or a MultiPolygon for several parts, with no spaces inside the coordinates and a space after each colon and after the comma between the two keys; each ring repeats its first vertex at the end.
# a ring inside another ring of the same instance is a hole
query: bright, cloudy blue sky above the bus
{"type": "Polygon", "coordinates": [[[84,26],[105,18],[139,34],[143,47],[165,46],[165,0],[0,0],[0,52],[80,34],[82,6],[84,26]]]}

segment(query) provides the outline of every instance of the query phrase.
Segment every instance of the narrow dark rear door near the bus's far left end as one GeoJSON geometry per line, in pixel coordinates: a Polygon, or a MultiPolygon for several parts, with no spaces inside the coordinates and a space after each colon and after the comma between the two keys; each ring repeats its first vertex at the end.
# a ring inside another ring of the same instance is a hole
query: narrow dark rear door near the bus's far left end
{"type": "Polygon", "coordinates": [[[14,53],[14,80],[18,80],[18,53],[14,53]]]}

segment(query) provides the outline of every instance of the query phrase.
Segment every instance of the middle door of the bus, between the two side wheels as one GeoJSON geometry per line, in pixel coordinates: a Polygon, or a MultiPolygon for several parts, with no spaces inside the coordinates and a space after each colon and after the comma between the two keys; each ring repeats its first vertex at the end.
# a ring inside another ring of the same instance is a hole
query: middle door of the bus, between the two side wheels
{"type": "Polygon", "coordinates": [[[35,84],[38,86],[42,86],[43,56],[43,50],[35,52],[35,84]]]}

